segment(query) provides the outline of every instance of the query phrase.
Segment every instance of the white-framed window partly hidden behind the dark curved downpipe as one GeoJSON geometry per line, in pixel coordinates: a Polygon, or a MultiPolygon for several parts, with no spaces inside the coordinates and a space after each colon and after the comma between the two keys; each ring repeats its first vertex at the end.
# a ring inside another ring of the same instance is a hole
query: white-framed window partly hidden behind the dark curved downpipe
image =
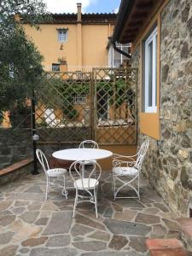
{"type": "MultiPolygon", "coordinates": [[[[130,44],[116,44],[117,48],[119,48],[122,51],[125,51],[125,53],[129,53],[130,44]]],[[[113,46],[111,46],[108,50],[108,65],[109,67],[120,67],[121,64],[123,64],[123,61],[127,60],[125,55],[121,55],[118,51],[113,49],[113,46]]]]}

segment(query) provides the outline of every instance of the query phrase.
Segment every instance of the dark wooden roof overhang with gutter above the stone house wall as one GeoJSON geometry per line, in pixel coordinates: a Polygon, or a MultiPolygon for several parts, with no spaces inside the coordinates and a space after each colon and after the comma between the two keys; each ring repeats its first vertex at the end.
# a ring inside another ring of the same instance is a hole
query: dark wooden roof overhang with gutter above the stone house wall
{"type": "Polygon", "coordinates": [[[133,43],[145,21],[163,0],[121,0],[112,43],[133,43]]]}

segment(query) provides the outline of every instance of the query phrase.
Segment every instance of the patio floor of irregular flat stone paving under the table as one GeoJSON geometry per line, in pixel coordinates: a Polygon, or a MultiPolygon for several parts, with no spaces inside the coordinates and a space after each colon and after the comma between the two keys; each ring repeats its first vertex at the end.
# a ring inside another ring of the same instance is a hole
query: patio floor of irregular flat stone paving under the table
{"type": "Polygon", "coordinates": [[[72,218],[73,190],[68,201],[61,189],[44,201],[44,191],[44,173],[0,189],[0,256],[138,256],[147,255],[148,237],[180,239],[177,222],[144,178],[141,201],[113,201],[110,172],[103,172],[97,219],[89,203],[72,218]]]}

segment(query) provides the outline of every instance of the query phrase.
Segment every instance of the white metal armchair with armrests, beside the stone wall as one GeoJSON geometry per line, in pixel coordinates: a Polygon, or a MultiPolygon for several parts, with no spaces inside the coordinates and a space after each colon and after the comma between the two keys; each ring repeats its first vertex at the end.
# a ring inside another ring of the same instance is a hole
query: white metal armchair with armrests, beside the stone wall
{"type": "Polygon", "coordinates": [[[125,156],[113,154],[113,196],[116,198],[139,198],[139,174],[143,159],[148,150],[149,141],[145,140],[137,154],[125,156]],[[136,183],[136,184],[134,184],[136,183]],[[117,196],[121,189],[129,187],[136,192],[136,196],[117,196]]]}

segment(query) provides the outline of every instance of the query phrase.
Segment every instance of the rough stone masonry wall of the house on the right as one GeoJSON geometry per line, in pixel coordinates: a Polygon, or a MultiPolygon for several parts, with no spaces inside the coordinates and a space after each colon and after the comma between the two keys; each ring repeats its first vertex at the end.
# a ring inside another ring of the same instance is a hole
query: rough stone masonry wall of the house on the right
{"type": "MultiPolygon", "coordinates": [[[[149,138],[143,172],[176,216],[189,217],[189,202],[192,207],[191,0],[171,0],[166,5],[161,13],[160,38],[160,141],[149,138]]],[[[132,56],[133,67],[138,67],[138,60],[139,49],[132,56]]],[[[146,137],[139,133],[139,143],[146,137]]]]}

